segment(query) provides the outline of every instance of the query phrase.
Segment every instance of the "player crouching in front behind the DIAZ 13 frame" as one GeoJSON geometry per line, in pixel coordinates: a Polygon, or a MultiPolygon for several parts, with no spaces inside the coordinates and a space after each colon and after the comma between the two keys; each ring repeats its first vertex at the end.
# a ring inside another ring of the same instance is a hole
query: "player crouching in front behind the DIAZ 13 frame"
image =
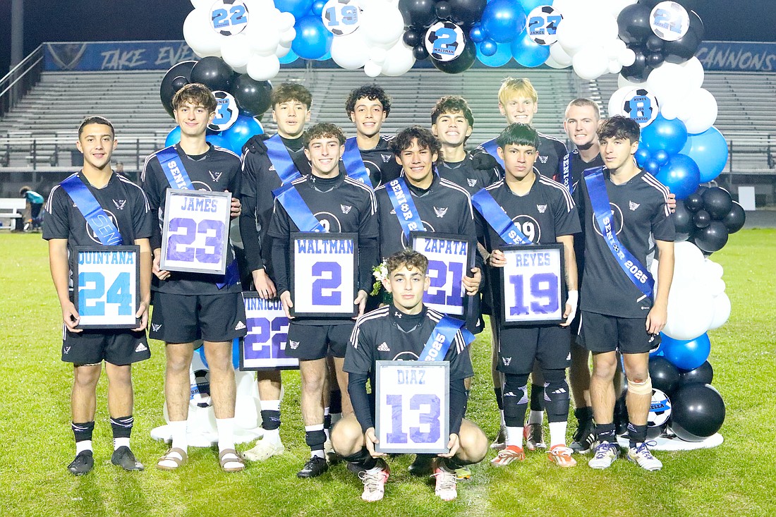
{"type": "MultiPolygon", "coordinates": [[[[442,314],[423,304],[423,293],[430,279],[426,276],[428,259],[414,250],[404,250],[387,259],[388,278],[383,286],[393,303],[359,318],[345,355],[354,415],[342,418],[332,430],[334,449],[355,467],[364,482],[361,498],[379,501],[390,474],[384,453],[375,451],[374,399],[366,392],[366,381],[375,386],[375,363],[379,360],[416,360],[442,319],[442,314]]],[[[487,438],[473,422],[463,418],[466,390],[463,380],[473,375],[466,342],[456,332],[445,360],[450,362],[449,453],[433,458],[435,492],[451,501],[458,495],[455,470],[479,463],[487,454],[487,438]]],[[[373,392],[372,392],[373,393],[373,392]]]]}

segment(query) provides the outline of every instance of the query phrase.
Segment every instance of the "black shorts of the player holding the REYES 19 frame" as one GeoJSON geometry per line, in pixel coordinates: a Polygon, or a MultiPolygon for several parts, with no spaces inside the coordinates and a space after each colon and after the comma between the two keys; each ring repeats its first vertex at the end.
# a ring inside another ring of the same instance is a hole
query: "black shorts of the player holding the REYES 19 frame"
{"type": "Polygon", "coordinates": [[[571,332],[559,325],[501,327],[498,366],[503,373],[531,373],[534,362],[542,370],[564,370],[571,363],[571,332]]]}

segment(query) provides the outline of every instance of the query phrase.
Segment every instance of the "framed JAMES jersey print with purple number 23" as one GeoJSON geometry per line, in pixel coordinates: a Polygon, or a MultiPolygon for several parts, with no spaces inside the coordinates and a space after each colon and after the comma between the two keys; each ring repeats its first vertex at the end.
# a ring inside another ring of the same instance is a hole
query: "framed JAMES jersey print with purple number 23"
{"type": "Polygon", "coordinates": [[[160,269],[223,275],[232,195],[167,189],[160,269]]]}

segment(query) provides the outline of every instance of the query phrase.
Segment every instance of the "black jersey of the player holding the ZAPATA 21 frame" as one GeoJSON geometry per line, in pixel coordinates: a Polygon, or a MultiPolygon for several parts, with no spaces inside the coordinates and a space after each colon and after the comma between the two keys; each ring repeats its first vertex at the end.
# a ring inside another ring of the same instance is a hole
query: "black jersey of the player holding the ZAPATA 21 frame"
{"type": "MultiPolygon", "coordinates": [[[[466,189],[455,183],[434,175],[431,187],[422,191],[407,183],[417,213],[423,221],[426,231],[440,234],[456,234],[476,240],[472,200],[466,189]]],[[[400,252],[407,247],[396,210],[390,202],[388,186],[375,190],[380,227],[380,256],[383,259],[400,252]]]]}

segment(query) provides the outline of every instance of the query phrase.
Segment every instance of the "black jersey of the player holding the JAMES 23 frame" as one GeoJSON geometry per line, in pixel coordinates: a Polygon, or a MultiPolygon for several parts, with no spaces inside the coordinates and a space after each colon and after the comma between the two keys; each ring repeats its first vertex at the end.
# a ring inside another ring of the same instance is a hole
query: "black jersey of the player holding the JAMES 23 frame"
{"type": "MultiPolygon", "coordinates": [[[[210,145],[205,154],[193,158],[185,154],[177,144],[175,151],[178,152],[195,189],[209,192],[229,192],[233,197],[240,197],[241,168],[240,157],[237,154],[214,145],[210,145]]],[[[143,190],[148,197],[148,203],[151,205],[151,212],[158,213],[158,224],[154,225],[151,248],[161,248],[161,229],[165,220],[166,193],[170,184],[165,172],[161,169],[157,153],[150,154],[146,158],[140,179],[143,190]]],[[[230,240],[229,245],[227,245],[227,265],[233,260],[234,250],[230,240]]],[[[239,282],[219,290],[216,284],[222,281],[222,275],[175,271],[171,272],[168,280],[160,281],[156,276],[153,276],[151,287],[161,293],[189,295],[239,293],[242,290],[239,282]]]]}

